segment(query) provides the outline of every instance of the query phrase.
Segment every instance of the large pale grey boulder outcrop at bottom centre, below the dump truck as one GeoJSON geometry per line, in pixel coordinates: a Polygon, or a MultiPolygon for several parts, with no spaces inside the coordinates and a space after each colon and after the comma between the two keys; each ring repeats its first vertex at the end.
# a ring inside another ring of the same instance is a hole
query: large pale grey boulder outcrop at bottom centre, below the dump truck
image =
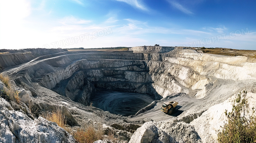
{"type": "Polygon", "coordinates": [[[194,127],[184,122],[146,122],[132,135],[129,143],[198,143],[201,139],[194,127]]]}

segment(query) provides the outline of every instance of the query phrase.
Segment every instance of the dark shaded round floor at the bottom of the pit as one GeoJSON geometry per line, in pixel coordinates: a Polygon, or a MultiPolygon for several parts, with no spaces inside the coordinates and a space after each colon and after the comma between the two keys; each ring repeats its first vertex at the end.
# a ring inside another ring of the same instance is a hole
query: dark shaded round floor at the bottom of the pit
{"type": "Polygon", "coordinates": [[[135,115],[153,101],[148,94],[118,91],[99,91],[92,99],[94,107],[123,116],[135,115]]]}

